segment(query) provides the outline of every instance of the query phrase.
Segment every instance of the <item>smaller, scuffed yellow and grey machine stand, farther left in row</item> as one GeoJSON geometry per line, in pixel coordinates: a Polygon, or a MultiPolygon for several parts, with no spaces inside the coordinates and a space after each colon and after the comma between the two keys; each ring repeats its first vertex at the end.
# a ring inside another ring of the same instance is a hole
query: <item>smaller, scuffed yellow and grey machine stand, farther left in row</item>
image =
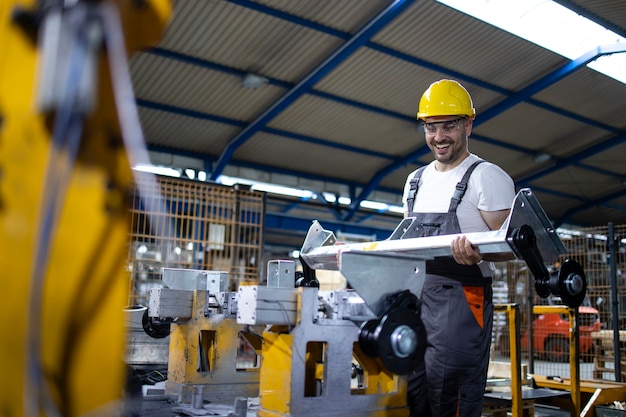
{"type": "Polygon", "coordinates": [[[150,290],[143,327],[170,336],[166,394],[192,406],[258,396],[260,330],[237,323],[228,274],[163,268],[163,284],[150,290]]]}

